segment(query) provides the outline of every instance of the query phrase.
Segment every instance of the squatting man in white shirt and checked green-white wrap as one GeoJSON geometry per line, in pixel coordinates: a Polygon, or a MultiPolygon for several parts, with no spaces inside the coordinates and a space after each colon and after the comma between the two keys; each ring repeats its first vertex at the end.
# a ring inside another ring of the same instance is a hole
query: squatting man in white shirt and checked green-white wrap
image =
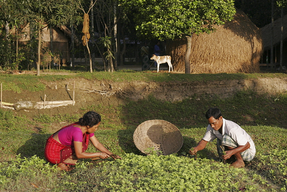
{"type": "Polygon", "coordinates": [[[255,145],[251,137],[238,124],[222,118],[220,109],[210,108],[205,117],[208,119],[208,127],[204,137],[196,147],[189,150],[191,155],[205,148],[209,141],[217,139],[217,151],[220,159],[227,160],[235,157],[236,161],[230,166],[244,167],[244,161],[251,161],[255,156],[255,145]],[[223,155],[222,148],[226,152],[223,155]]]}

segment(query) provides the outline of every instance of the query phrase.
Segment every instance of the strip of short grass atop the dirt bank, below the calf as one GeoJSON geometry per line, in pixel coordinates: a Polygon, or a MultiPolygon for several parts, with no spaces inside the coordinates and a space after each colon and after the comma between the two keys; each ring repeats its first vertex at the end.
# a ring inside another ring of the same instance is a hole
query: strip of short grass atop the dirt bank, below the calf
{"type": "Polygon", "coordinates": [[[287,78],[287,74],[283,73],[258,73],[258,74],[176,74],[176,73],[154,73],[136,72],[132,70],[120,70],[113,74],[103,71],[95,71],[93,73],[83,71],[73,71],[67,69],[52,70],[52,72],[66,72],[69,75],[11,75],[1,74],[0,82],[3,83],[3,91],[13,91],[21,93],[24,90],[35,92],[43,91],[46,89],[45,82],[63,81],[67,79],[85,78],[88,80],[107,80],[114,82],[132,82],[132,81],[145,81],[145,82],[208,82],[208,81],[222,81],[222,80],[243,80],[243,79],[257,79],[257,78],[287,78]]]}

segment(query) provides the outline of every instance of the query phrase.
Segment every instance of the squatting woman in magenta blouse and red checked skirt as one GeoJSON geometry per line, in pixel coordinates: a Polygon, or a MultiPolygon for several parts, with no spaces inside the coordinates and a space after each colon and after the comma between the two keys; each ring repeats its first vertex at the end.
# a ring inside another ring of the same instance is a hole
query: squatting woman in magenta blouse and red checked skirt
{"type": "Polygon", "coordinates": [[[58,130],[47,139],[45,145],[46,160],[52,164],[57,164],[61,170],[70,171],[74,169],[70,165],[74,165],[81,158],[99,157],[106,159],[111,156],[114,159],[121,159],[120,156],[108,151],[96,139],[94,132],[98,129],[100,122],[101,116],[94,111],[89,111],[79,119],[79,122],[58,130]],[[86,153],[89,141],[101,152],[86,153]]]}

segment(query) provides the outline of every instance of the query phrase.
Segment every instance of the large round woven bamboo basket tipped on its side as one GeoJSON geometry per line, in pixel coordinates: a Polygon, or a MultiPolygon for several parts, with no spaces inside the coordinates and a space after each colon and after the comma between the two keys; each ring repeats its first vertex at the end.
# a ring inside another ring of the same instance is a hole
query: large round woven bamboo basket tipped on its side
{"type": "Polygon", "coordinates": [[[142,153],[153,147],[156,151],[162,151],[163,155],[177,153],[183,145],[179,129],[170,122],[158,119],[148,120],[137,126],[133,141],[142,153]]]}

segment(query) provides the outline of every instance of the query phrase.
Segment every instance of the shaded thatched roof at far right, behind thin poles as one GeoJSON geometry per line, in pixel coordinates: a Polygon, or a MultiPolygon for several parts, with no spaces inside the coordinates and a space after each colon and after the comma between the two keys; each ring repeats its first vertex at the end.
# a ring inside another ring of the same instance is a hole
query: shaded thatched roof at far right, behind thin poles
{"type": "MultiPolygon", "coordinates": [[[[261,28],[261,35],[264,49],[270,49],[271,47],[271,27],[272,23],[265,25],[261,28]]],[[[274,21],[274,32],[273,32],[273,45],[280,43],[281,36],[281,18],[274,21]]],[[[283,40],[287,37],[287,15],[283,17],[283,40]]]]}

